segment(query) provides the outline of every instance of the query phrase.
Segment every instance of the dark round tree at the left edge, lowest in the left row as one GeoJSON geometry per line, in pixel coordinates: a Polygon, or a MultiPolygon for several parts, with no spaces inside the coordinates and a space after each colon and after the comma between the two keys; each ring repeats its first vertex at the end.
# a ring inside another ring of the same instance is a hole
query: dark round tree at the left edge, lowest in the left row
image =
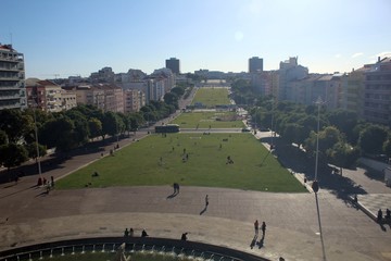
{"type": "Polygon", "coordinates": [[[0,147],[0,165],[4,165],[8,170],[18,166],[28,160],[27,150],[17,144],[8,144],[0,147]]]}

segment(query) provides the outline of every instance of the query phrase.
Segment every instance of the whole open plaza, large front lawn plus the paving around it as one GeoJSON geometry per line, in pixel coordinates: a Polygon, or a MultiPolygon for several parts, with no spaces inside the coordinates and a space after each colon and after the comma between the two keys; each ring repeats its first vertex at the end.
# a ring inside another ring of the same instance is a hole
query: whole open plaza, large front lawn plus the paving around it
{"type": "Polygon", "coordinates": [[[46,164],[48,156],[42,175],[53,176],[53,190],[36,186],[38,174],[1,184],[0,251],[122,236],[131,227],[135,236],[142,229],[173,239],[188,233],[189,241],[269,260],[391,260],[391,226],[380,226],[350,200],[358,194],[363,208],[376,211],[374,201],[386,208],[391,189],[377,174],[361,167],[343,170],[343,176],[319,171],[323,252],[315,194],[303,178],[314,164],[277,137],[269,153],[269,141],[268,132],[164,136],[144,129],[121,139],[114,156],[109,151],[115,140],[55,164],[46,164]],[[264,237],[256,235],[255,220],[267,224],[264,237]]]}

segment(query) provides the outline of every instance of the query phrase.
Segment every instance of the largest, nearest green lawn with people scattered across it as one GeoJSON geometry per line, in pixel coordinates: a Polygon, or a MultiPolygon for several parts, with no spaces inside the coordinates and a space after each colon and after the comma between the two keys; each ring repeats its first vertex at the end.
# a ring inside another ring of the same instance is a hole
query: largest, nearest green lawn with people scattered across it
{"type": "Polygon", "coordinates": [[[153,186],[178,182],[182,186],[305,191],[267,153],[251,134],[150,135],[116,151],[113,157],[105,157],[58,181],[55,187],[81,188],[89,183],[89,187],[153,186]],[[227,164],[227,157],[234,164],[227,164]],[[99,176],[92,177],[93,172],[99,176]]]}

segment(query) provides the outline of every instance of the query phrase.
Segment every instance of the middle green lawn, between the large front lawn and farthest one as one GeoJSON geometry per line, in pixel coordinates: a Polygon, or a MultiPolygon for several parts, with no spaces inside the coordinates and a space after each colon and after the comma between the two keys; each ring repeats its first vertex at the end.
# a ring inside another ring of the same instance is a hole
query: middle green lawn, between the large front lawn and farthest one
{"type": "Polygon", "coordinates": [[[180,128],[242,128],[243,122],[236,112],[185,112],[172,123],[179,124],[180,128]]]}

